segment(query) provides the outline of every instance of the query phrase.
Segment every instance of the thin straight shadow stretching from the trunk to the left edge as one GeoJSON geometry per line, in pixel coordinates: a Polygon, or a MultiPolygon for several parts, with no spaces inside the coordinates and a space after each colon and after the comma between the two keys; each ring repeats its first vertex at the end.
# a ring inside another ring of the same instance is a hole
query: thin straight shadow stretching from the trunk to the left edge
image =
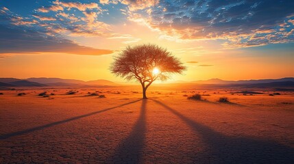
{"type": "Polygon", "coordinates": [[[76,117],[73,117],[73,118],[69,118],[69,119],[66,119],[66,120],[61,120],[61,121],[58,121],[58,122],[52,122],[52,123],[45,124],[45,125],[42,125],[42,126],[36,126],[34,128],[27,128],[27,129],[25,129],[23,131],[16,131],[16,132],[13,132],[13,133],[8,133],[8,134],[5,134],[5,135],[1,135],[0,136],[0,139],[8,139],[10,137],[14,137],[14,136],[17,136],[17,135],[25,135],[27,133],[32,133],[34,131],[40,131],[40,130],[42,130],[44,128],[49,128],[51,126],[56,126],[58,124],[63,124],[63,123],[66,123],[66,122],[71,122],[71,121],[74,121],[74,120],[78,120],[80,118],[85,118],[85,117],[88,117],[90,115],[95,115],[95,114],[98,114],[98,113],[102,113],[104,111],[109,111],[111,109],[115,109],[115,108],[118,108],[118,107],[123,107],[125,105],[130,105],[130,104],[132,104],[134,102],[138,102],[138,101],[140,101],[140,100],[134,100],[132,102],[127,102],[125,104],[117,105],[115,107],[110,107],[110,108],[107,108],[107,109],[103,109],[101,111],[94,111],[92,113],[87,113],[87,114],[84,114],[84,115],[79,115],[79,116],[76,116],[76,117]]]}

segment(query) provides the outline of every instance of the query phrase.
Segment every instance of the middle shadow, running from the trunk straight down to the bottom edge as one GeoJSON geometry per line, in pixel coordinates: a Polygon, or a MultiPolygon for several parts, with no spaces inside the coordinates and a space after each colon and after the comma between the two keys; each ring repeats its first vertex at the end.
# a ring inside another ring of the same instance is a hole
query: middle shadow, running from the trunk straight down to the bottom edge
{"type": "Polygon", "coordinates": [[[132,128],[132,132],[119,143],[110,161],[114,163],[143,163],[142,156],[146,133],[146,103],[147,100],[143,99],[140,116],[132,128]]]}

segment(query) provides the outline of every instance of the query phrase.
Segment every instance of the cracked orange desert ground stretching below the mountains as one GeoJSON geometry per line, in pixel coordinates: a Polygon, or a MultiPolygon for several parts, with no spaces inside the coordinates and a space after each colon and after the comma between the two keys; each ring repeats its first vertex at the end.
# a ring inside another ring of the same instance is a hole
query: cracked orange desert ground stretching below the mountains
{"type": "Polygon", "coordinates": [[[294,92],[244,90],[1,90],[0,163],[293,163],[294,92]]]}

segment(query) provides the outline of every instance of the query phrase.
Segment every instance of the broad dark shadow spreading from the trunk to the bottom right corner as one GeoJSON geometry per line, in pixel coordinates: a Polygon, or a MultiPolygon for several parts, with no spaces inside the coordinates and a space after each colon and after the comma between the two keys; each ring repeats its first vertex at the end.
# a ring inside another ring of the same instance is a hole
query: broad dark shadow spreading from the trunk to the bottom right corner
{"type": "MultiPolygon", "coordinates": [[[[193,152],[196,163],[293,163],[294,148],[284,146],[269,139],[252,137],[231,137],[214,131],[209,126],[199,124],[175,109],[154,100],[158,105],[177,115],[206,143],[204,152],[193,152]],[[200,154],[200,155],[199,155],[200,154]]],[[[195,145],[196,146],[196,145],[195,145]]]]}

